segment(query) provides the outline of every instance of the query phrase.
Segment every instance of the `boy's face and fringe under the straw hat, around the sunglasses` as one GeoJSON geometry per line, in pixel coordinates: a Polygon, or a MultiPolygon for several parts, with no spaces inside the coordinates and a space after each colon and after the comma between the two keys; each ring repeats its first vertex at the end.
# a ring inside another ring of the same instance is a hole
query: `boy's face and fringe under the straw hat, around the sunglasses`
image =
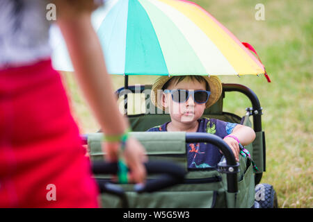
{"type": "MultiPolygon", "coordinates": [[[[206,87],[204,82],[200,83],[197,80],[184,78],[184,80],[179,83],[173,81],[170,85],[168,85],[167,89],[186,89],[188,91],[192,91],[206,90],[206,87]]],[[[162,102],[163,106],[168,108],[172,121],[184,123],[193,123],[194,121],[197,121],[202,116],[205,109],[205,103],[195,103],[192,95],[188,97],[186,102],[177,103],[172,101],[172,95],[170,93],[163,94],[162,102]]]]}

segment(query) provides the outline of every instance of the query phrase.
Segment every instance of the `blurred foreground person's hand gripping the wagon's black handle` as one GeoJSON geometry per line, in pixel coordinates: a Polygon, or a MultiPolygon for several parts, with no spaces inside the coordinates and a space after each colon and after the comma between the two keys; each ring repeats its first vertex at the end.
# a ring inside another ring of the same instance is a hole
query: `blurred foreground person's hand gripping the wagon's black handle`
{"type": "MultiPolygon", "coordinates": [[[[109,162],[117,162],[120,152],[119,142],[107,142],[104,144],[106,151],[106,160],[109,162]]],[[[145,167],[143,162],[147,162],[147,156],[145,155],[145,148],[138,142],[137,139],[129,137],[126,142],[125,151],[122,153],[127,167],[130,169],[128,175],[129,182],[143,183],[146,178],[145,167]]]]}

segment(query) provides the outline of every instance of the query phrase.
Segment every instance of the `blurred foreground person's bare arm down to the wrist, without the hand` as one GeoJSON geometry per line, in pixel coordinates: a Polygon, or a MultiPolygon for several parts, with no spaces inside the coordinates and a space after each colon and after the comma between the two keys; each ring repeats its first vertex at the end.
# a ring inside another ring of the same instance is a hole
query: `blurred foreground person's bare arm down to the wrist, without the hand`
{"type": "Polygon", "coordinates": [[[83,11],[73,17],[60,17],[57,22],[65,38],[79,85],[97,121],[104,133],[117,135],[125,132],[127,121],[116,105],[111,78],[106,71],[102,48],[91,25],[90,14],[90,11],[83,11]]]}

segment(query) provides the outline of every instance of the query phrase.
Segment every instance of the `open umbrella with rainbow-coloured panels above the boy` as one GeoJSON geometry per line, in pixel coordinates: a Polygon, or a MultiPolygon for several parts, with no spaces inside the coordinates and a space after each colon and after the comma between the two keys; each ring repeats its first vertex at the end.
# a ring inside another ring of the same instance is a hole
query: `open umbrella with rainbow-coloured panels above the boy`
{"type": "MultiPolygon", "coordinates": [[[[252,46],[190,1],[106,1],[93,12],[92,23],[110,74],[268,78],[262,62],[250,53],[252,46]]],[[[52,33],[62,39],[56,28],[52,33]]],[[[54,45],[54,67],[72,71],[63,40],[54,45]]]]}

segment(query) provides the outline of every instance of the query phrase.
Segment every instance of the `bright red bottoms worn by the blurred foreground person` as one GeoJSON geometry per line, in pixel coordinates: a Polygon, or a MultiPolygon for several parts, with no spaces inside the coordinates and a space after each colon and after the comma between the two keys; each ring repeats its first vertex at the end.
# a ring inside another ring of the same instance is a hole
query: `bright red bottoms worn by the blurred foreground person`
{"type": "Polygon", "coordinates": [[[51,60],[0,71],[0,207],[98,207],[51,60]]]}

